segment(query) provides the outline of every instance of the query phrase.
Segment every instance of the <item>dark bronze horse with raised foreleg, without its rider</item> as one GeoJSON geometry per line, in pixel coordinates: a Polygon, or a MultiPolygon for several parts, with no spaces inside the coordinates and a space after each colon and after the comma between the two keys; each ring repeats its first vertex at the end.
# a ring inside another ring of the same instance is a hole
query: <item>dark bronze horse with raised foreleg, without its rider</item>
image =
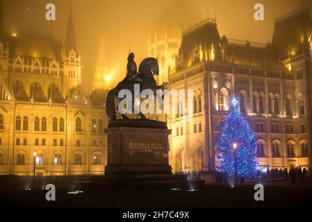
{"type": "MultiPolygon", "coordinates": [[[[138,77],[140,81],[131,80],[131,78],[124,78],[118,85],[111,89],[108,92],[106,98],[106,114],[108,118],[111,120],[117,119],[116,117],[116,108],[115,108],[115,98],[118,103],[122,101],[124,98],[118,98],[118,93],[122,89],[129,89],[132,94],[132,113],[134,113],[134,84],[140,84],[140,92],[145,89],[151,89],[154,92],[155,98],[157,97],[156,90],[157,89],[165,89],[163,85],[157,85],[156,80],[154,79],[154,75],[159,74],[158,69],[158,61],[156,58],[145,58],[140,64],[138,74],[134,77],[138,77]]],[[[163,99],[163,97],[162,97],[163,99]]],[[[146,119],[145,115],[142,112],[137,113],[141,119],[146,119]]],[[[129,119],[125,114],[121,114],[123,119],[129,119]]]]}

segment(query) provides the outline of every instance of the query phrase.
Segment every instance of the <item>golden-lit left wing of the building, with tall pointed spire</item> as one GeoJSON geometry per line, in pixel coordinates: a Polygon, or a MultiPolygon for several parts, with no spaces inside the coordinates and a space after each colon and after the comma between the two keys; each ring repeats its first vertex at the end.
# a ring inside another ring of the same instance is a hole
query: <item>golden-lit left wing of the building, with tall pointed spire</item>
{"type": "Polygon", "coordinates": [[[80,84],[72,12],[64,45],[30,31],[0,36],[0,174],[32,175],[34,152],[38,175],[104,173],[108,87],[86,94],[80,84]]]}

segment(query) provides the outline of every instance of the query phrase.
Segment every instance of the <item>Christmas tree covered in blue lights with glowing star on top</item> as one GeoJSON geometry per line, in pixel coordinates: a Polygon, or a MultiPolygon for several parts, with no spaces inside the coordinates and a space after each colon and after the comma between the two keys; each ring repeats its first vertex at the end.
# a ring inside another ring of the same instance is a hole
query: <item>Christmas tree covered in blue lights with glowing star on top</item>
{"type": "Polygon", "coordinates": [[[254,131],[249,127],[245,117],[240,115],[236,105],[238,101],[232,101],[234,107],[222,126],[222,135],[217,148],[220,155],[217,157],[217,171],[227,173],[229,176],[250,177],[256,176],[256,138],[254,131]],[[234,151],[234,147],[236,146],[234,151]],[[236,156],[236,166],[235,166],[236,156]]]}

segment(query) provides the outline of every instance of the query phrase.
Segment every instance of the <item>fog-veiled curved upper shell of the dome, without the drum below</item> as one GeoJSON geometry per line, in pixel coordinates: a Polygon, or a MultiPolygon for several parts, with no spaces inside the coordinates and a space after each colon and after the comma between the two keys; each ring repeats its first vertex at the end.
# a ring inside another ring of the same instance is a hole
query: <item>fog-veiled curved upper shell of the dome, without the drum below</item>
{"type": "Polygon", "coordinates": [[[205,16],[191,0],[174,0],[158,18],[151,42],[181,35],[182,26],[183,30],[186,30],[201,22],[205,16]]]}

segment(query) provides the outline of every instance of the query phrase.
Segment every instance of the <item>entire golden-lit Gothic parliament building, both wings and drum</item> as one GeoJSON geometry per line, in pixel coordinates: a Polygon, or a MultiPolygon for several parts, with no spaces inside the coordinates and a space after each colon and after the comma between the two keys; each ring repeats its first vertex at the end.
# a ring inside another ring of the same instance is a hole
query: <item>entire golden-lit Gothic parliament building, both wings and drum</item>
{"type": "MultiPolygon", "coordinates": [[[[166,116],[172,172],[215,170],[234,97],[255,131],[259,169],[311,167],[309,10],[276,19],[272,42],[255,44],[220,36],[215,18],[188,21],[199,23],[184,31],[168,27],[168,17],[183,15],[179,4],[174,8],[161,15],[148,49],[159,61],[158,84],[194,90],[192,117],[166,116]]],[[[72,10],[64,30],[64,44],[33,31],[6,35],[0,6],[0,174],[32,175],[34,161],[38,176],[104,173],[111,88],[104,44],[86,94],[72,10]]]]}

